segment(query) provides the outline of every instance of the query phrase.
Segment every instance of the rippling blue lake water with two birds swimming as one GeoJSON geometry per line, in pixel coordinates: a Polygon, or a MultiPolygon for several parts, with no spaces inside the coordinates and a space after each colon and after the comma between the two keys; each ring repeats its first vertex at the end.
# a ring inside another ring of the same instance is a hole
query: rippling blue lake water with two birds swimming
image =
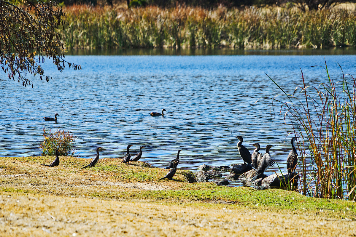
{"type": "MultiPolygon", "coordinates": [[[[281,91],[266,74],[289,92],[301,85],[299,67],[308,85],[325,82],[324,69],[310,67],[325,66],[324,57],[334,80],[342,79],[336,62],[345,74],[356,75],[356,55],[342,51],[300,50],[303,55],[295,55],[298,50],[286,50],[288,55],[282,55],[283,50],[275,51],[277,55],[263,50],[244,53],[249,55],[142,52],[67,55],[66,60],[83,70],[66,67],[59,73],[48,62],[45,72],[53,81],[34,79],[33,89],[0,75],[0,156],[39,155],[46,126],[78,136],[74,146],[80,157],[93,158],[96,147],[103,146],[101,158],[121,158],[131,144],[131,154],[145,146],[142,160],[165,167],[182,150],[178,168],[196,171],[202,164],[242,163],[238,140],[233,137],[241,135],[251,153],[254,147],[248,144],[259,142],[263,153],[267,144],[275,145],[271,156],[286,171],[292,137],[287,135],[292,130],[283,117],[271,120],[271,99],[263,97],[281,91]],[[148,114],[162,108],[167,110],[164,117],[148,114]],[[60,114],[58,123],[42,119],[55,113],[60,114]]],[[[272,173],[273,167],[266,172],[272,173]]]]}

